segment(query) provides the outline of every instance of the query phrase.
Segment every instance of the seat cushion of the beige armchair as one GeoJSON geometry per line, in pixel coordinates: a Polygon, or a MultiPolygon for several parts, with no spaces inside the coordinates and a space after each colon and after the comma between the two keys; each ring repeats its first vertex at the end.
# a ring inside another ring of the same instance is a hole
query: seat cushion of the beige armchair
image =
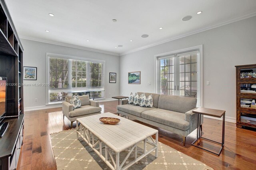
{"type": "Polygon", "coordinates": [[[73,111],[70,111],[68,115],[70,117],[77,117],[77,116],[82,116],[82,115],[88,115],[92,113],[97,113],[101,111],[101,107],[93,107],[90,105],[84,105],[81,106],[77,109],[74,109],[73,111]]]}

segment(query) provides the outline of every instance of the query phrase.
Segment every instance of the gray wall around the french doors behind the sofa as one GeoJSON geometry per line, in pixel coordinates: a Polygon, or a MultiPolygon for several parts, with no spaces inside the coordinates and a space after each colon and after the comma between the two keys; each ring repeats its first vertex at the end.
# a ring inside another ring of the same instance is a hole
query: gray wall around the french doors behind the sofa
{"type": "MultiPolygon", "coordinates": [[[[203,106],[236,117],[235,65],[256,64],[256,17],[176,39],[120,57],[120,94],[155,92],[154,55],[203,45],[203,106]],[[141,84],[128,84],[128,72],[141,71],[141,84]],[[210,81],[210,86],[206,86],[210,81]],[[147,84],[151,82],[151,86],[147,84]]],[[[234,121],[234,119],[232,119],[234,121]]]]}

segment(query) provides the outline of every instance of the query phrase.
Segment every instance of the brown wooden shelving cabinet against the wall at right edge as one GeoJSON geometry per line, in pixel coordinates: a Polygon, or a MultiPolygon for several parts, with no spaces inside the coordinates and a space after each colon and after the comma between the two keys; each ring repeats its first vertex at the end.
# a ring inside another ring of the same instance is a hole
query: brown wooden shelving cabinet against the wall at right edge
{"type": "Polygon", "coordinates": [[[236,67],[236,127],[253,127],[256,128],[256,124],[254,121],[244,121],[241,119],[241,116],[248,116],[256,118],[256,105],[252,106],[250,101],[256,100],[256,93],[255,92],[241,92],[242,89],[246,88],[246,90],[256,90],[254,84],[256,85],[256,78],[255,77],[245,77],[241,76],[242,72],[256,72],[256,64],[249,64],[249,65],[240,65],[236,67]],[[248,101],[246,105],[241,105],[242,101],[248,101]]]}

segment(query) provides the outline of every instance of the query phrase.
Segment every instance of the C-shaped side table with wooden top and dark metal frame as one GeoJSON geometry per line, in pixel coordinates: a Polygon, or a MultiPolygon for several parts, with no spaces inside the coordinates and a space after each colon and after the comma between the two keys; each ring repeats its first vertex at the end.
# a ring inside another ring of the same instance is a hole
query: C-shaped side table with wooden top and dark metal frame
{"type": "Polygon", "coordinates": [[[220,152],[222,151],[223,147],[224,147],[224,137],[225,137],[225,113],[226,111],[224,110],[217,110],[217,109],[208,109],[208,108],[204,108],[204,107],[199,107],[198,109],[195,109],[193,110],[193,113],[198,113],[198,117],[197,117],[197,133],[196,133],[196,137],[197,139],[191,144],[195,147],[198,147],[200,149],[203,149],[203,150],[206,150],[208,152],[211,152],[213,154],[216,154],[218,156],[220,156],[220,152]],[[201,124],[201,115],[208,115],[208,116],[212,116],[212,117],[218,117],[218,118],[221,118],[223,117],[223,122],[222,122],[222,142],[219,143],[219,142],[216,142],[216,141],[213,141],[213,140],[210,140],[210,139],[207,139],[207,138],[204,138],[204,137],[201,137],[201,133],[200,133],[200,129],[199,129],[199,126],[201,124]],[[199,130],[198,130],[199,129],[199,130]],[[199,131],[199,132],[198,132],[199,131]],[[210,141],[212,143],[216,143],[216,144],[219,144],[221,145],[221,148],[220,148],[220,151],[218,153],[216,152],[212,152],[211,150],[207,150],[207,149],[204,149],[202,147],[199,147],[197,145],[195,145],[195,143],[199,140],[199,139],[205,139],[207,141],[210,141]]]}

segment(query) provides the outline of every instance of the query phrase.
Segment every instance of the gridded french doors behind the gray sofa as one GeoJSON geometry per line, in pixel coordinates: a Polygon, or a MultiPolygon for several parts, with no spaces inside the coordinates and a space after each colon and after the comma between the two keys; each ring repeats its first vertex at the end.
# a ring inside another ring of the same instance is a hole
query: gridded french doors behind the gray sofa
{"type": "Polygon", "coordinates": [[[199,51],[158,57],[158,94],[198,98],[199,51]]]}

